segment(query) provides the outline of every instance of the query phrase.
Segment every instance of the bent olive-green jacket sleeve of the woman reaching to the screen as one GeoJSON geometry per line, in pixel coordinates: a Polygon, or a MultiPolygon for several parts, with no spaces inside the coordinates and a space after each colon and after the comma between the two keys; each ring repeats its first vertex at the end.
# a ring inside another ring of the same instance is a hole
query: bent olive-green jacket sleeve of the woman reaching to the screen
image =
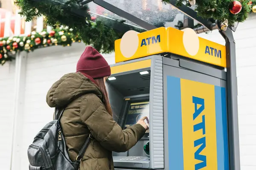
{"type": "Polygon", "coordinates": [[[101,100],[87,99],[81,102],[80,116],[93,137],[105,148],[114,152],[126,152],[145,134],[145,128],[136,124],[125,130],[113,120],[101,100]]]}

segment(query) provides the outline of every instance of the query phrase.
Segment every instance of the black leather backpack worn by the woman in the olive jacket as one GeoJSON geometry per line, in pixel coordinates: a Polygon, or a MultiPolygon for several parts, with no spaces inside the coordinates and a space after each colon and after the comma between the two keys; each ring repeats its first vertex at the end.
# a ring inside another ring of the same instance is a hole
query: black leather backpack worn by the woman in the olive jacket
{"type": "Polygon", "coordinates": [[[66,142],[61,133],[60,119],[64,109],[55,109],[55,120],[49,122],[35,136],[29,145],[29,170],[78,170],[79,164],[84,156],[93,136],[90,134],[86,139],[76,161],[71,161],[68,155],[66,142]]]}

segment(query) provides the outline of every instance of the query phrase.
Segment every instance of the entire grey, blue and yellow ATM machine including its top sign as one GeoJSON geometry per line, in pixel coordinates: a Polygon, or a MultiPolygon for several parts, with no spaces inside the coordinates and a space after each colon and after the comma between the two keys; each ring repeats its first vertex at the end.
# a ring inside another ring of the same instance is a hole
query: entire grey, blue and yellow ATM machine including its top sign
{"type": "Polygon", "coordinates": [[[113,118],[125,129],[148,116],[149,130],[127,152],[113,153],[115,170],[231,169],[226,48],[198,37],[192,51],[187,35],[174,28],[140,33],[139,42],[153,36],[159,42],[139,45],[131,59],[116,40],[118,62],[107,80],[113,118]]]}

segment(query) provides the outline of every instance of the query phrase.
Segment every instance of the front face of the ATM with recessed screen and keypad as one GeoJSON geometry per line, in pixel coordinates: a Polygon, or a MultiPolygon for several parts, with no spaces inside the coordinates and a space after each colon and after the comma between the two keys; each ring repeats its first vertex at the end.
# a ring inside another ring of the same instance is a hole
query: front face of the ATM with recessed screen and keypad
{"type": "Polygon", "coordinates": [[[107,89],[113,118],[123,129],[136,124],[142,116],[147,116],[150,124],[150,129],[134,147],[125,153],[113,153],[115,170],[151,169],[154,167],[153,163],[159,164],[157,160],[163,166],[163,80],[159,77],[159,84],[156,84],[151,78],[156,71],[151,70],[152,62],[160,62],[158,60],[158,57],[145,57],[136,62],[125,62],[127,67],[124,67],[124,63],[111,66],[112,75],[107,81],[107,89]],[[140,68],[134,70],[136,65],[140,68]],[[156,89],[152,89],[153,86],[156,89]],[[153,121],[155,125],[152,124],[153,121]],[[155,143],[154,150],[149,150],[153,149],[153,146],[150,147],[151,142],[155,143]],[[154,158],[150,154],[153,152],[158,152],[159,155],[156,153],[154,158]],[[151,161],[152,159],[155,161],[151,161]]]}

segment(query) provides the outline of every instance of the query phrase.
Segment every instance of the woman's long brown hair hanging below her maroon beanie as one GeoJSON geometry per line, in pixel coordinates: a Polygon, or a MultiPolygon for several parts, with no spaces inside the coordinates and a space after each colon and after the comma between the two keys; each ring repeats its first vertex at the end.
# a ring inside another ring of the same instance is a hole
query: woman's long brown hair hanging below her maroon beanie
{"type": "Polygon", "coordinates": [[[95,79],[95,81],[98,84],[99,89],[101,90],[102,95],[104,97],[104,105],[105,105],[106,110],[108,111],[108,113],[111,116],[113,116],[111,105],[110,105],[109,99],[108,99],[108,92],[107,92],[107,89],[106,89],[106,85],[104,83],[104,78],[95,79]]]}

